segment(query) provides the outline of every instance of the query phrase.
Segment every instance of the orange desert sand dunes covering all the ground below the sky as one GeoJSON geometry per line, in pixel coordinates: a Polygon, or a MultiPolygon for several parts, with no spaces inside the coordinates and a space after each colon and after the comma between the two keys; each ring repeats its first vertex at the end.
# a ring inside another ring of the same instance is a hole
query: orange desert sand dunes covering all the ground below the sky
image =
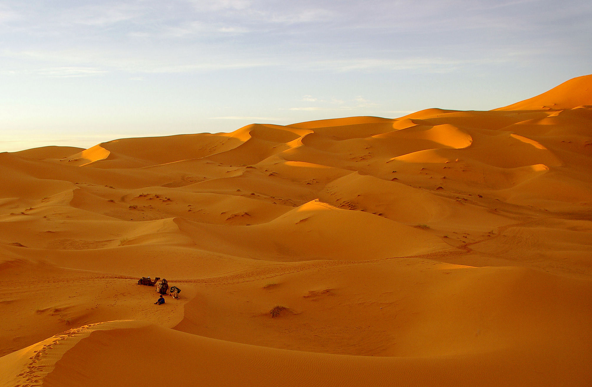
{"type": "Polygon", "coordinates": [[[0,176],[0,386],[592,385],[592,75],[0,176]]]}

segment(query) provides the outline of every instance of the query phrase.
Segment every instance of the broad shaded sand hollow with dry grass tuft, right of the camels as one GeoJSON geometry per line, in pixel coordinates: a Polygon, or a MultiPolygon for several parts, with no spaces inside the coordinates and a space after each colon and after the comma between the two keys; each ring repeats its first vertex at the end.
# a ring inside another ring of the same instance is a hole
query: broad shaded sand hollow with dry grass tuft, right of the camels
{"type": "MultiPolygon", "coordinates": [[[[577,241],[573,234],[564,237],[577,241]]],[[[249,279],[229,275],[212,278],[207,289],[197,285],[175,329],[266,347],[394,357],[564,346],[585,357],[592,342],[590,283],[538,270],[396,258],[274,265],[249,279]],[[276,305],[285,309],[272,318],[276,305]],[[569,331],[559,328],[565,320],[569,331]]]]}

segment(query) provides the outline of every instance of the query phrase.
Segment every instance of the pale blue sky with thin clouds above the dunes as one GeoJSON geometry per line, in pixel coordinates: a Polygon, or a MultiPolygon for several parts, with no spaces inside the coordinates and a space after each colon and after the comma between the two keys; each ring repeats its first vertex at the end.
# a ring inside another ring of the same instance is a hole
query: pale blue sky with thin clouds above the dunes
{"type": "Polygon", "coordinates": [[[489,110],[592,73],[590,0],[0,0],[0,151],[489,110]]]}

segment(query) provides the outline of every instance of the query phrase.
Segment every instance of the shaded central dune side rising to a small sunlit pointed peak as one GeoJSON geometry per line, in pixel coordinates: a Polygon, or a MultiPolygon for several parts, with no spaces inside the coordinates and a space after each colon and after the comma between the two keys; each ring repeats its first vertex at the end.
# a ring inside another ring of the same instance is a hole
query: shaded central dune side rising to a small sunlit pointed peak
{"type": "Polygon", "coordinates": [[[312,201],[259,225],[220,227],[176,219],[200,249],[253,259],[366,260],[446,249],[437,237],[361,211],[312,201]],[[363,224],[361,230],[359,225],[363,224]]]}

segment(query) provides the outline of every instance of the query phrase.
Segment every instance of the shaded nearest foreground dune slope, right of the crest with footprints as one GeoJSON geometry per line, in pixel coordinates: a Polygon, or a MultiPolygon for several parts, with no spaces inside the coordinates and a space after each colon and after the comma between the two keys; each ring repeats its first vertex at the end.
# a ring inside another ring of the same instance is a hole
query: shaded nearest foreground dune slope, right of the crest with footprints
{"type": "Polygon", "coordinates": [[[179,386],[356,386],[362,380],[372,386],[535,386],[560,383],[568,372],[565,365],[552,365],[553,356],[533,359],[540,363],[532,372],[520,361],[519,351],[433,359],[339,356],[230,343],[136,322],[102,325],[89,328],[94,330],[86,337],[67,337],[61,343],[60,337],[56,347],[38,353],[37,363],[50,356],[56,362],[46,375],[34,366],[30,375],[38,379],[33,380],[43,380],[45,386],[102,387],[137,385],[139,380],[179,386]],[[66,345],[73,346],[61,356],[56,353],[66,345]],[[173,357],[179,361],[163,367],[163,358],[173,357]],[[506,361],[496,361],[500,357],[506,361]]]}

